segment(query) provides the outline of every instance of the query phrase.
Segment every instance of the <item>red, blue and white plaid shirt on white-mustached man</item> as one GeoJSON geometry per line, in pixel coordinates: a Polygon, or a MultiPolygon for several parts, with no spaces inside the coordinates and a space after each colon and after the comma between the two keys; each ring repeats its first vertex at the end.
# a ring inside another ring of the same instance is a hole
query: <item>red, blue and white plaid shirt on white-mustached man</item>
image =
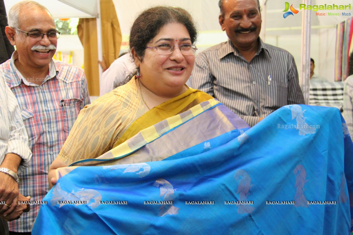
{"type": "MultiPolygon", "coordinates": [[[[11,91],[19,103],[22,119],[32,150],[30,165],[19,174],[19,191],[41,201],[49,191],[48,169],[64,144],[79,111],[90,103],[87,81],[82,69],[59,61],[51,61],[49,74],[38,86],[26,81],[10,60],[0,65],[11,91]]],[[[40,206],[9,223],[10,231],[29,232],[40,206]]]]}

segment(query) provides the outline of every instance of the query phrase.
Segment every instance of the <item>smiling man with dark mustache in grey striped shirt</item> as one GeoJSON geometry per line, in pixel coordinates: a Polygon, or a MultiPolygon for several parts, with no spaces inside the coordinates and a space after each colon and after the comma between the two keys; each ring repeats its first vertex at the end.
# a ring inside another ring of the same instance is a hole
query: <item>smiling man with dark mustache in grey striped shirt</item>
{"type": "Polygon", "coordinates": [[[258,0],[220,0],[228,41],[195,58],[192,87],[220,100],[250,126],[276,109],[304,104],[294,58],[262,42],[258,0]]]}

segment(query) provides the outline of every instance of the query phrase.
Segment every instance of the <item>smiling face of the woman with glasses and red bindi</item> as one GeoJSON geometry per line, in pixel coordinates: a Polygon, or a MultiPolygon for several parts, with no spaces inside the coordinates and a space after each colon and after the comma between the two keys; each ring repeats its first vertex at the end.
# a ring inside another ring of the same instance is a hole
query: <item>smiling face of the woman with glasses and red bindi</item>
{"type": "MultiPolygon", "coordinates": [[[[191,39],[183,24],[169,23],[160,29],[146,47],[157,47],[162,43],[191,44],[191,39]]],[[[183,55],[179,47],[175,47],[170,55],[159,55],[157,49],[146,48],[142,62],[136,58],[135,62],[144,86],[155,94],[165,96],[183,89],[191,75],[195,55],[183,55]]]]}

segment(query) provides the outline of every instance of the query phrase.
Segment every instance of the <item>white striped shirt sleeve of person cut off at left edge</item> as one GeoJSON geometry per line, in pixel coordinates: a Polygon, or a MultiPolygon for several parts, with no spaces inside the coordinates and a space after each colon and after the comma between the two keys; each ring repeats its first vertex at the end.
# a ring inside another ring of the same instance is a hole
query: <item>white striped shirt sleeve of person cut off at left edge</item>
{"type": "MultiPolygon", "coordinates": [[[[17,171],[20,173],[28,167],[32,153],[28,147],[28,137],[16,97],[5,84],[4,76],[2,74],[0,76],[2,78],[0,81],[0,164],[6,154],[17,154],[22,158],[17,171]]],[[[23,183],[20,182],[20,184],[23,183]]]]}

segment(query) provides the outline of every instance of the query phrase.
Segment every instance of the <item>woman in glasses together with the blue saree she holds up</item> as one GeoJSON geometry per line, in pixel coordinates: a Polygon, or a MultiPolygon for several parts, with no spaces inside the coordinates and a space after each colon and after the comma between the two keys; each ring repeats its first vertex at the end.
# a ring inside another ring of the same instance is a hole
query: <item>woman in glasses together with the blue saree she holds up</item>
{"type": "Polygon", "coordinates": [[[138,16],[139,74],[80,112],[32,234],[351,231],[353,143],[339,110],[289,105],[249,129],[185,86],[190,22],[169,7],[138,16]]]}

